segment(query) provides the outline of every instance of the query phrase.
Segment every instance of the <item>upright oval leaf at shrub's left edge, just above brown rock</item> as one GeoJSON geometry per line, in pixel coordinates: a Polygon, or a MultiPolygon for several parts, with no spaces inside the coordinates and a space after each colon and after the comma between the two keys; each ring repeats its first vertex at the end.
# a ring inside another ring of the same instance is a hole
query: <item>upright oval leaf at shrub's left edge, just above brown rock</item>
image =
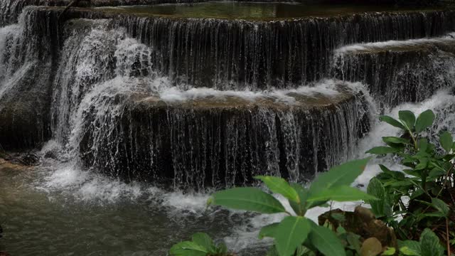
{"type": "Polygon", "coordinates": [[[392,206],[390,205],[390,198],[385,191],[385,187],[378,180],[378,178],[372,178],[367,187],[367,193],[371,196],[379,198],[379,200],[368,201],[371,206],[371,210],[376,215],[376,218],[382,216],[389,217],[392,215],[392,206]]]}

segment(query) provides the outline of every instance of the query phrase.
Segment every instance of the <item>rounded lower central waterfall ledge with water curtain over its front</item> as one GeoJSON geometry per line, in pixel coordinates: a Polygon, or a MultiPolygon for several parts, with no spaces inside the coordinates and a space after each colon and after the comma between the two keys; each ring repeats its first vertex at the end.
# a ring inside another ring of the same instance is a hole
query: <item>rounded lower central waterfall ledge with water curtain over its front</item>
{"type": "Polygon", "coordinates": [[[230,187],[259,174],[306,181],[346,160],[370,127],[363,93],[336,88],[331,96],[293,91],[253,100],[136,95],[112,127],[88,114],[80,156],[111,176],[179,188],[230,187]],[[279,101],[287,97],[294,101],[279,101]]]}

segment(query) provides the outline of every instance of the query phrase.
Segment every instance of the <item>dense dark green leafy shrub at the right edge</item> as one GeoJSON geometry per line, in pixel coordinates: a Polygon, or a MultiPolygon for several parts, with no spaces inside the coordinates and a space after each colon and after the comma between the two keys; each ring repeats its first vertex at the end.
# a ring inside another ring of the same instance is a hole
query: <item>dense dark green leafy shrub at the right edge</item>
{"type": "Polygon", "coordinates": [[[439,142],[432,143],[426,132],[435,118],[431,110],[417,118],[410,111],[400,111],[398,115],[399,119],[382,116],[380,120],[399,128],[402,135],[383,137],[385,146],[368,151],[391,154],[405,166],[401,172],[380,165],[382,173],[370,181],[367,190],[380,198],[369,202],[373,213],[395,228],[400,239],[417,240],[425,228],[438,230],[440,225],[438,233],[449,240],[446,225],[454,225],[449,218],[453,217],[453,210],[448,205],[455,203],[450,193],[454,189],[454,139],[449,132],[442,132],[439,142]],[[397,217],[402,220],[397,221],[397,217]]]}

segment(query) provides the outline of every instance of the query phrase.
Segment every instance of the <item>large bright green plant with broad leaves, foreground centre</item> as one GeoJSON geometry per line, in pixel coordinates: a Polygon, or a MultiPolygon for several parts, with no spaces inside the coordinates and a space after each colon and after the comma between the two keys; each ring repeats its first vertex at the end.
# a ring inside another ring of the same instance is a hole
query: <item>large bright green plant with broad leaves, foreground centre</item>
{"type": "Polygon", "coordinates": [[[323,255],[344,256],[346,252],[341,240],[329,228],[319,226],[305,217],[306,212],[317,206],[324,206],[328,201],[374,201],[357,188],[350,187],[367,164],[369,159],[350,161],[318,176],[309,188],[297,183],[289,184],[283,178],[256,176],[273,193],[287,198],[292,210],[289,213],[277,198],[259,188],[230,188],[213,194],[208,203],[237,210],[251,210],[258,213],[286,213],[279,223],[264,226],[259,238],[273,238],[274,246],[269,255],[289,256],[308,255],[321,252],[323,255]]]}

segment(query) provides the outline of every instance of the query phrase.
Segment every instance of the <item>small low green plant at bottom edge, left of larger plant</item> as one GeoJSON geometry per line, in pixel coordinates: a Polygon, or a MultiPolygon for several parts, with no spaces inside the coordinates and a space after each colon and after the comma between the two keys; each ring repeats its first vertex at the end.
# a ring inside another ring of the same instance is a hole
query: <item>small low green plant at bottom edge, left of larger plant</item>
{"type": "Polygon", "coordinates": [[[205,233],[196,233],[191,241],[179,242],[171,247],[173,256],[231,256],[225,244],[215,245],[212,238],[205,233]]]}

